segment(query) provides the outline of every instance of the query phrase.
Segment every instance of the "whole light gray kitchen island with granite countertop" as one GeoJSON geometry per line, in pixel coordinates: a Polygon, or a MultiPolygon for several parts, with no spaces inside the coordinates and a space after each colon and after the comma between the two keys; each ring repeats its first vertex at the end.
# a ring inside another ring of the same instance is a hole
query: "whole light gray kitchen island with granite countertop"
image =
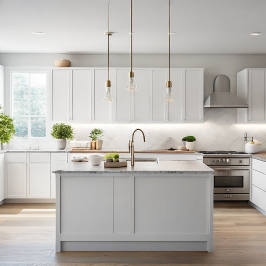
{"type": "Polygon", "coordinates": [[[213,251],[213,170],[197,161],[56,174],[56,252],[213,251]]]}

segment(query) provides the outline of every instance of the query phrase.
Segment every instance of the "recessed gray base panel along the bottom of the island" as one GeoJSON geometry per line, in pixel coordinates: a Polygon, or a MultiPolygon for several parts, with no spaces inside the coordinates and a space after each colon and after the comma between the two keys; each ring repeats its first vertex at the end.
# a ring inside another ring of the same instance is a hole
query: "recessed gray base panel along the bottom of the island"
{"type": "Polygon", "coordinates": [[[65,241],[61,251],[208,251],[208,241],[65,241]]]}

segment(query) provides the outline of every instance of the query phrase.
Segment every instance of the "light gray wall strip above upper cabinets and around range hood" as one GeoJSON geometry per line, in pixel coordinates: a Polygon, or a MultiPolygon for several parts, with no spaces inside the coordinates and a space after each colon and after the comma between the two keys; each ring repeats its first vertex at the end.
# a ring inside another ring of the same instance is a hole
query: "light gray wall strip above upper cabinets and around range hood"
{"type": "MultiPolygon", "coordinates": [[[[57,59],[69,59],[73,67],[106,67],[103,54],[30,54],[0,53],[3,66],[53,66],[57,59]]],[[[237,93],[237,72],[244,68],[266,67],[266,55],[171,55],[171,67],[205,67],[204,99],[213,91],[213,80],[224,74],[231,80],[231,91],[237,93]]],[[[168,67],[168,55],[134,55],[133,67],[168,67]]],[[[129,67],[130,56],[110,55],[110,67],[129,67]]],[[[174,84],[173,84],[174,86],[174,84]]]]}

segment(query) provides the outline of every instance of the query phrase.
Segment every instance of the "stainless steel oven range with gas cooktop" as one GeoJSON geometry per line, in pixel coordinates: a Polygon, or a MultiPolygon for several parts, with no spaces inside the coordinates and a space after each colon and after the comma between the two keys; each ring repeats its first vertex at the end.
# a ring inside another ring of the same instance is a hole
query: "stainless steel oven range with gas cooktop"
{"type": "Polygon", "coordinates": [[[214,169],[214,200],[249,200],[250,158],[203,158],[214,169]]]}

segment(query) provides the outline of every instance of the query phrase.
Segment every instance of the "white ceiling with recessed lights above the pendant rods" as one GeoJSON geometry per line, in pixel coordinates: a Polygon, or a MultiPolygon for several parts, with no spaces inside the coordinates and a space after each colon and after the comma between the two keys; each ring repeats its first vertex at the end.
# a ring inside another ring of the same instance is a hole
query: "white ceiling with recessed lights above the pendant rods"
{"type": "MultiPolygon", "coordinates": [[[[129,53],[130,0],[109,1],[110,53],[129,53]]],[[[133,53],[168,53],[168,2],[132,0],[133,53]]],[[[0,0],[0,53],[105,54],[107,8],[108,0],[0,0]]],[[[171,54],[266,54],[265,10],[266,0],[171,0],[171,54]]]]}

